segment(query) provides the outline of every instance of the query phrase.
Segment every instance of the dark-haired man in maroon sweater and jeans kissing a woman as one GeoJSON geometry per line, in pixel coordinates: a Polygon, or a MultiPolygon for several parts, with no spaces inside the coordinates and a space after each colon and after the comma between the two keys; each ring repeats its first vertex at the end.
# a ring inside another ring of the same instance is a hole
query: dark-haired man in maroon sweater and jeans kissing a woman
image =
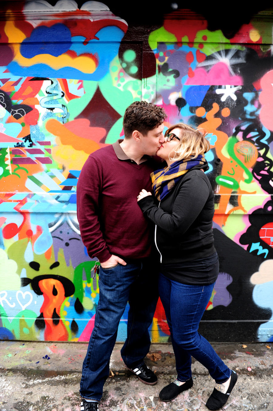
{"type": "MultiPolygon", "coordinates": [[[[152,232],[137,203],[142,189],[151,191],[150,173],[165,141],[165,111],[135,102],[127,107],[124,140],[89,155],[77,184],[80,232],[91,258],[101,263],[99,302],[83,363],[81,411],[97,411],[117,328],[127,301],[127,339],[121,350],[128,369],[143,383],[156,375],[145,365],[151,325],[158,300],[156,269],[151,259],[152,232]]],[[[158,165],[160,167],[160,165],[158,165]]]]}

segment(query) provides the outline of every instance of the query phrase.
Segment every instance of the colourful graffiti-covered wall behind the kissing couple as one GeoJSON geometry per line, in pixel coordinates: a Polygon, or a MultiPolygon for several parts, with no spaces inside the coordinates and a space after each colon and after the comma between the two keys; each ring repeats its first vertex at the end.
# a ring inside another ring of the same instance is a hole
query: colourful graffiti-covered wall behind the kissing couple
{"type": "MultiPolygon", "coordinates": [[[[106,5],[6,2],[0,21],[0,339],[88,341],[98,279],[76,186],[123,137],[133,101],[203,128],[220,275],[200,324],[211,341],[273,340],[273,39],[253,18],[232,38],[192,13],[128,27],[106,5]]],[[[118,341],[126,338],[126,309],[118,341]]],[[[158,302],[153,342],[170,332],[158,302]]]]}

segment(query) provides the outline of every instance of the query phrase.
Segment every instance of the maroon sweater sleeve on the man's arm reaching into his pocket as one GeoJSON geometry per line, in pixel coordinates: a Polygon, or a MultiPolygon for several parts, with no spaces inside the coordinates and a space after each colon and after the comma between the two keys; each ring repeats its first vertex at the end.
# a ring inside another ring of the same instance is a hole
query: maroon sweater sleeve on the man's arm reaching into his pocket
{"type": "Polygon", "coordinates": [[[96,159],[88,157],[77,183],[77,216],[80,234],[87,253],[101,263],[111,254],[108,250],[99,222],[99,201],[102,191],[102,176],[96,159]]]}

